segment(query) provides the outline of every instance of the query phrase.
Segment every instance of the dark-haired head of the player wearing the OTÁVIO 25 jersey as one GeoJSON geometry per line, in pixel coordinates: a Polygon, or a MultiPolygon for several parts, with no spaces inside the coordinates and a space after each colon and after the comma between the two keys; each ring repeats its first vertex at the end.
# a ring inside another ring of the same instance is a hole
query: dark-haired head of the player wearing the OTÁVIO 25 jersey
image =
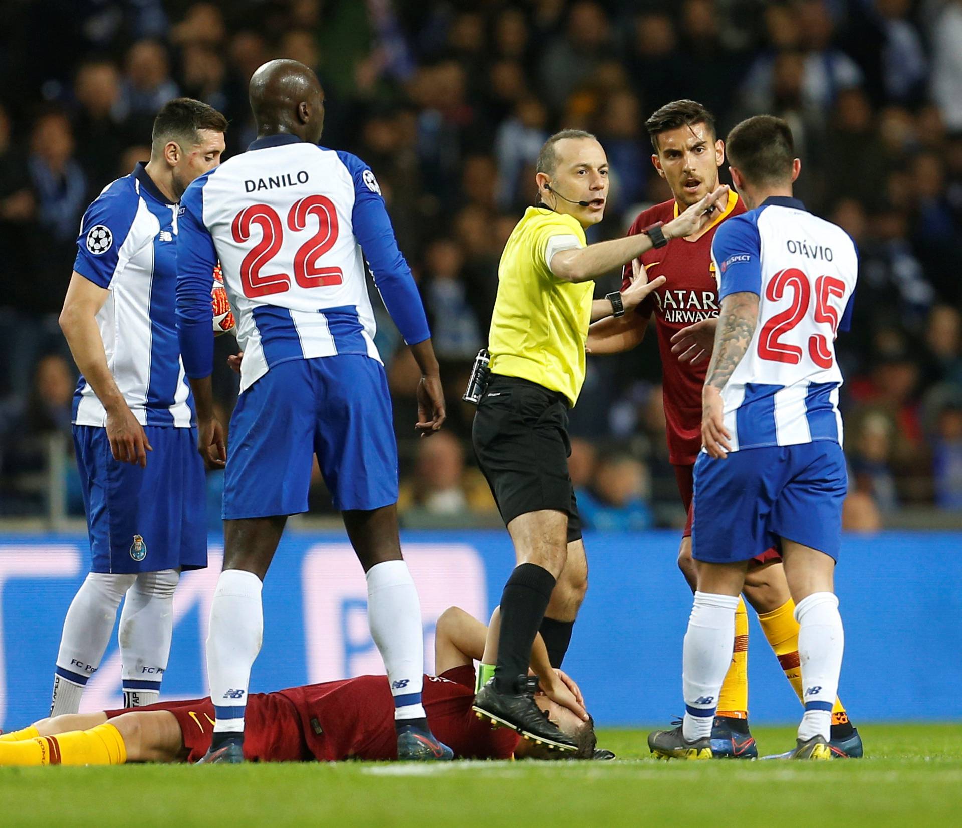
{"type": "Polygon", "coordinates": [[[749,210],[771,195],[791,195],[801,161],[788,122],[758,115],[737,124],[728,133],[728,168],[749,210]]]}

